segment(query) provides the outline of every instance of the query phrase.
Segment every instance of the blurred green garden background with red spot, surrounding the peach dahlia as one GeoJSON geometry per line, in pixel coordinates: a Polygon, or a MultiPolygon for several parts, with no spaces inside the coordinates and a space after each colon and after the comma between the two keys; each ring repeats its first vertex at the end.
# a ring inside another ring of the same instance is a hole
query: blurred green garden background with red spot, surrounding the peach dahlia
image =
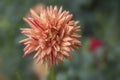
{"type": "Polygon", "coordinates": [[[22,18],[37,3],[63,6],[81,26],[82,47],[47,80],[120,80],[120,0],[0,0],[0,80],[38,80],[18,43],[28,27],[22,18]]]}

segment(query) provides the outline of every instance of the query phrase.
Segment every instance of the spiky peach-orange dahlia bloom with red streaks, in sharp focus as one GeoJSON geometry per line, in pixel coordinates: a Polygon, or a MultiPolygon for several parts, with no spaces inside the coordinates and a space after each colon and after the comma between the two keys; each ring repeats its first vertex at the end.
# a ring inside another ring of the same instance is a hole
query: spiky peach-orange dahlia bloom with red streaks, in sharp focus
{"type": "Polygon", "coordinates": [[[69,52],[81,45],[76,33],[80,26],[72,20],[73,15],[56,6],[42,8],[39,13],[31,9],[30,14],[23,18],[30,28],[21,28],[21,33],[28,37],[20,41],[25,45],[24,56],[36,52],[37,62],[49,65],[71,59],[69,52]]]}

